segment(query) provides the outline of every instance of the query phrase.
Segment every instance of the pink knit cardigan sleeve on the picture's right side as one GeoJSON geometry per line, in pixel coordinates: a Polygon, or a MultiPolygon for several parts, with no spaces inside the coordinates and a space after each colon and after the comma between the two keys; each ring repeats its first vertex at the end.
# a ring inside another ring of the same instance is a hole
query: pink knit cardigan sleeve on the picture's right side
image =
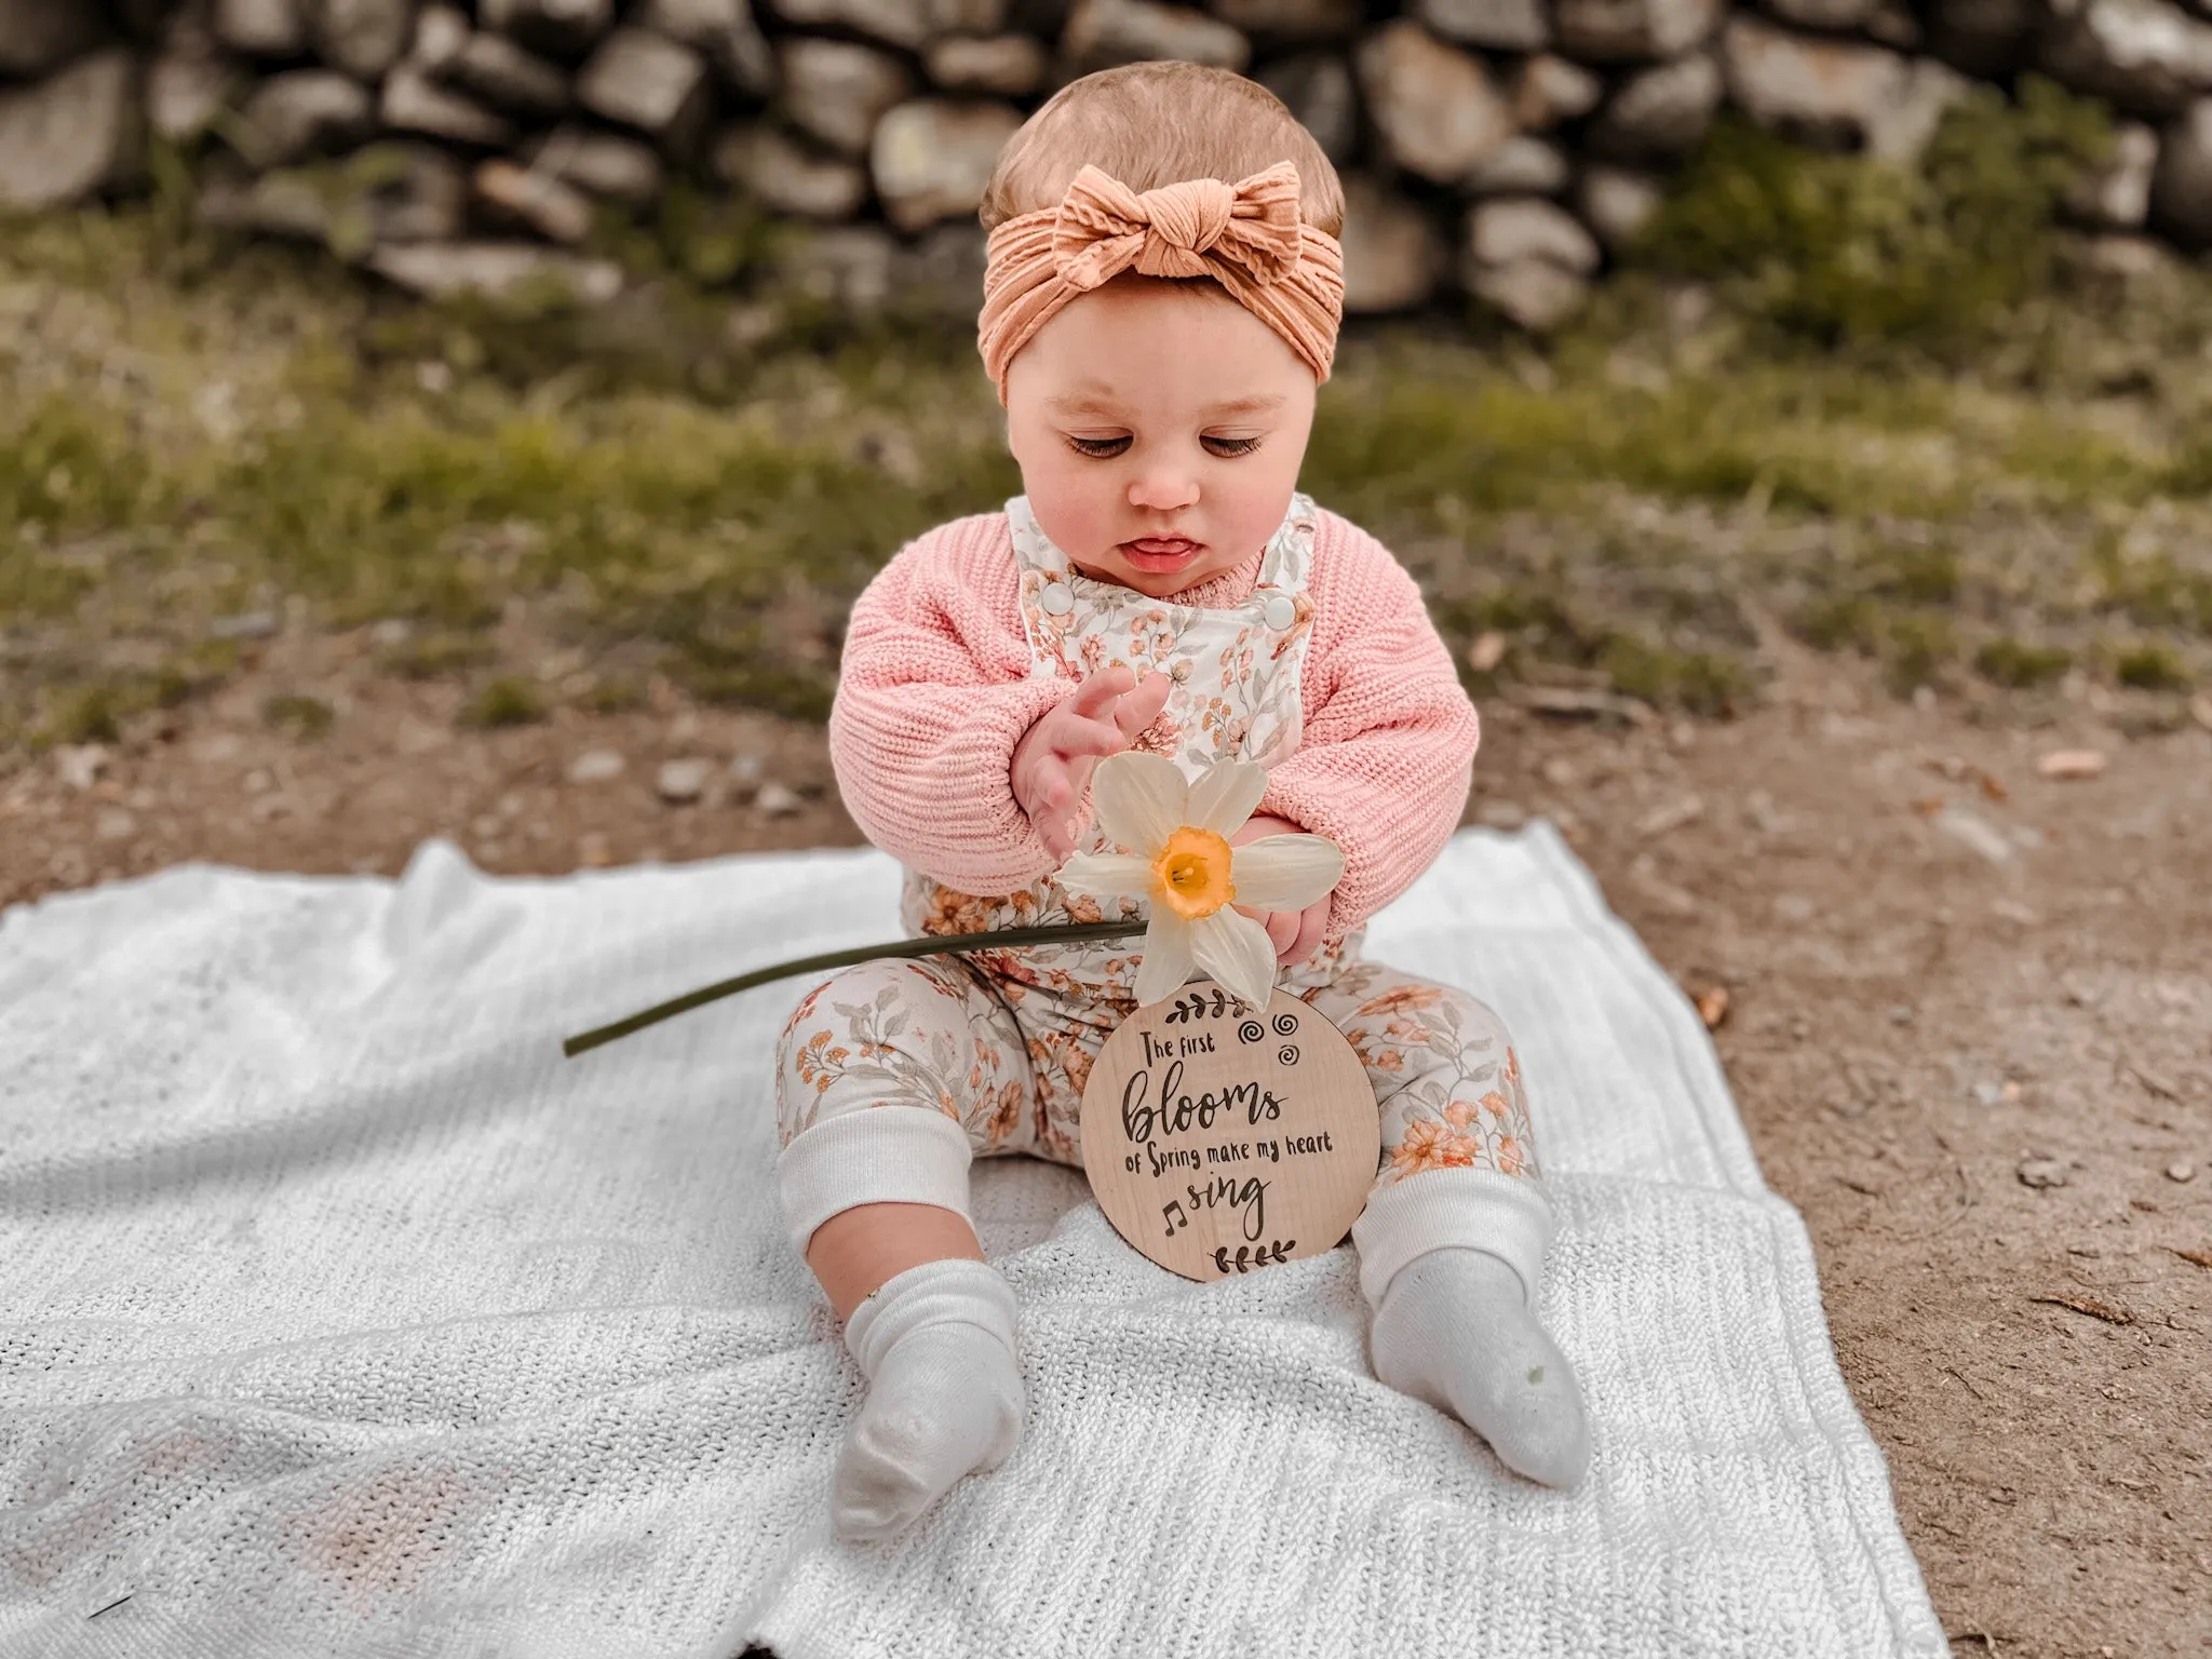
{"type": "Polygon", "coordinates": [[[1259,810],[1343,849],[1325,931],[1334,945],[1451,841],[1482,728],[1420,586],[1387,546],[1323,513],[1307,591],[1305,734],[1267,770],[1259,810]]]}

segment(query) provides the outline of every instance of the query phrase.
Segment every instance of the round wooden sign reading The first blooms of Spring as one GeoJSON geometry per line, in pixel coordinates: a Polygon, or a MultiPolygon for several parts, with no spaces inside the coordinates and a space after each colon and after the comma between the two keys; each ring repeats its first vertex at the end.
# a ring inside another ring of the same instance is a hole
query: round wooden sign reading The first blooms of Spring
{"type": "Polygon", "coordinates": [[[1367,1066],[1287,991],[1261,1015],[1192,980],[1124,1020],[1084,1084],[1099,1210],[1183,1279],[1334,1250],[1380,1155],[1367,1066]]]}

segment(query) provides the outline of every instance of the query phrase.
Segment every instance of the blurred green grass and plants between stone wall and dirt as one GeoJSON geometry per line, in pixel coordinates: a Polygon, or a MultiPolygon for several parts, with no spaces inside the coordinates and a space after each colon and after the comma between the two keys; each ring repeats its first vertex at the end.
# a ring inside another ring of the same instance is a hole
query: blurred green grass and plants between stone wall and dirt
{"type": "MultiPolygon", "coordinates": [[[[1778,624],[1900,692],[2174,697],[2212,672],[2212,288],[2053,230],[2104,131],[2035,82],[1913,175],[1721,128],[1573,334],[1352,330],[1303,482],[1462,661],[1500,637],[1480,695],[1728,712],[1778,624]]],[[[480,723],[653,675],[821,717],[883,560],[1020,489],[964,325],[712,292],[803,246],[730,204],[604,219],[641,281],[580,310],[416,305],[184,199],[161,157],[146,204],[0,237],[0,748],[197,695],[257,650],[212,622],[290,602],[480,723]],[[515,615],[573,668],[502,655],[515,615]]]]}

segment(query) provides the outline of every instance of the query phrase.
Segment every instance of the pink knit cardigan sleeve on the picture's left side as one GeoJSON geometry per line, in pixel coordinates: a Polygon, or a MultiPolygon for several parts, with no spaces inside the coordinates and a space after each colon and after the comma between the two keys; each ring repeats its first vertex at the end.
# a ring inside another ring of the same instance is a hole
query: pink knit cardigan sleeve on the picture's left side
{"type": "Polygon", "coordinates": [[[964,894],[1053,869],[1013,799],[1013,750],[1064,679],[1031,679],[1002,513],[909,542],[854,602],[830,765],[860,832],[964,894]]]}

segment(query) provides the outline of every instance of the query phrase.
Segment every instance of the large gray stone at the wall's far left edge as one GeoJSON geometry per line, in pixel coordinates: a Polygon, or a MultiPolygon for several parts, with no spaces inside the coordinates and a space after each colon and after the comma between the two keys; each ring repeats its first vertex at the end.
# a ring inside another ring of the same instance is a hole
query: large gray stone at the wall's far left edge
{"type": "Polygon", "coordinates": [[[0,208],[42,212],[128,184],[142,139],[137,62],[124,46],[0,91],[0,208]]]}

